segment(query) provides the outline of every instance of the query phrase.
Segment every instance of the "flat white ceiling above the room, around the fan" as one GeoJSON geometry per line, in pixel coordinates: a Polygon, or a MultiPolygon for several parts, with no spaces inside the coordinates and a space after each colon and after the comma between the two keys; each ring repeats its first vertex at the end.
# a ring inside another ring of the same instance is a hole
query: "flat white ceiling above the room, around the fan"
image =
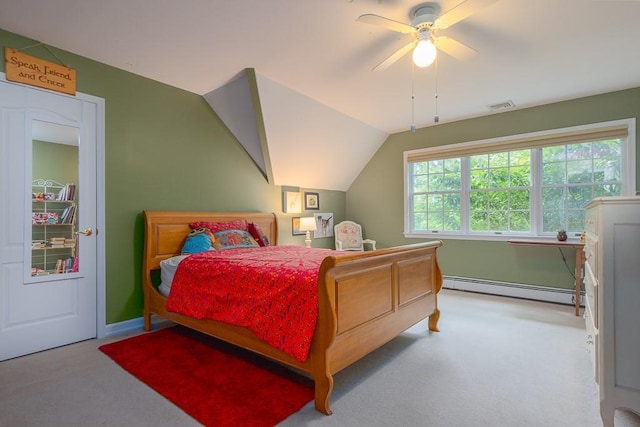
{"type": "MultiPolygon", "coordinates": [[[[443,11],[461,0],[441,0],[443,11]]],[[[406,0],[0,0],[0,28],[197,94],[246,68],[385,134],[640,86],[640,1],[498,0],[440,35],[478,51],[410,55],[371,69],[410,41],[357,22],[411,22],[406,0]]],[[[12,46],[20,48],[20,46],[12,46]]],[[[25,53],[29,53],[26,51],[25,53]]],[[[310,117],[308,120],[313,120],[310,117]]],[[[271,153],[273,155],[273,153],[271,153]]],[[[293,183],[291,183],[293,184],[293,183]]]]}

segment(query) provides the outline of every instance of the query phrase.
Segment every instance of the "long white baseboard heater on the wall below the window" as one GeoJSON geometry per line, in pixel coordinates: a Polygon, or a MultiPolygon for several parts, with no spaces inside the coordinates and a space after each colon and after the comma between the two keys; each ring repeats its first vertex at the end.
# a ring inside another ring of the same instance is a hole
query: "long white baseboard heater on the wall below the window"
{"type": "MultiPolygon", "coordinates": [[[[520,283],[495,282],[467,277],[444,276],[442,286],[447,289],[478,292],[482,294],[524,298],[536,301],[574,305],[573,289],[550,288],[547,286],[520,283]]],[[[584,305],[584,293],[580,292],[580,305],[584,305]]]]}

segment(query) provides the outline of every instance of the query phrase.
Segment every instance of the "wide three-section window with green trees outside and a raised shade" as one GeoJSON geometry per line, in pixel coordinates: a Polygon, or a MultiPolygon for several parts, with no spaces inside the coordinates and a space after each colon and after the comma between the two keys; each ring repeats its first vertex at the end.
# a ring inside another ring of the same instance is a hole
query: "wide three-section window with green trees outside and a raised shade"
{"type": "Polygon", "coordinates": [[[406,152],[405,235],[579,235],[591,199],[633,194],[634,135],[623,120],[406,152]]]}

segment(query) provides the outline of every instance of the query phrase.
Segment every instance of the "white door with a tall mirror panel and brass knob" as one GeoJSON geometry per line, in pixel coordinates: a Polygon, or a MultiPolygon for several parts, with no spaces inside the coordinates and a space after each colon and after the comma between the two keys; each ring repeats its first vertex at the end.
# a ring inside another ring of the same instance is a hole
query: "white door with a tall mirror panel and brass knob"
{"type": "Polygon", "coordinates": [[[96,337],[97,100],[0,81],[0,360],[96,337]]]}

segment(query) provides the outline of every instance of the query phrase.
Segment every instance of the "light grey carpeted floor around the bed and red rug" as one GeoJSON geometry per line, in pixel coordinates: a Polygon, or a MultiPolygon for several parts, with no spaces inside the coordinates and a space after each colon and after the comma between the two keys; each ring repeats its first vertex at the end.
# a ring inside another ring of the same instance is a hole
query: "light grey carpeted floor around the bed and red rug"
{"type": "MultiPolygon", "coordinates": [[[[571,307],[444,290],[440,333],[420,323],[338,373],[333,415],[280,426],[601,427],[571,307]]],[[[90,340],[0,363],[0,426],[195,426],[90,340]]],[[[617,413],[616,427],[640,426],[617,413]]]]}

